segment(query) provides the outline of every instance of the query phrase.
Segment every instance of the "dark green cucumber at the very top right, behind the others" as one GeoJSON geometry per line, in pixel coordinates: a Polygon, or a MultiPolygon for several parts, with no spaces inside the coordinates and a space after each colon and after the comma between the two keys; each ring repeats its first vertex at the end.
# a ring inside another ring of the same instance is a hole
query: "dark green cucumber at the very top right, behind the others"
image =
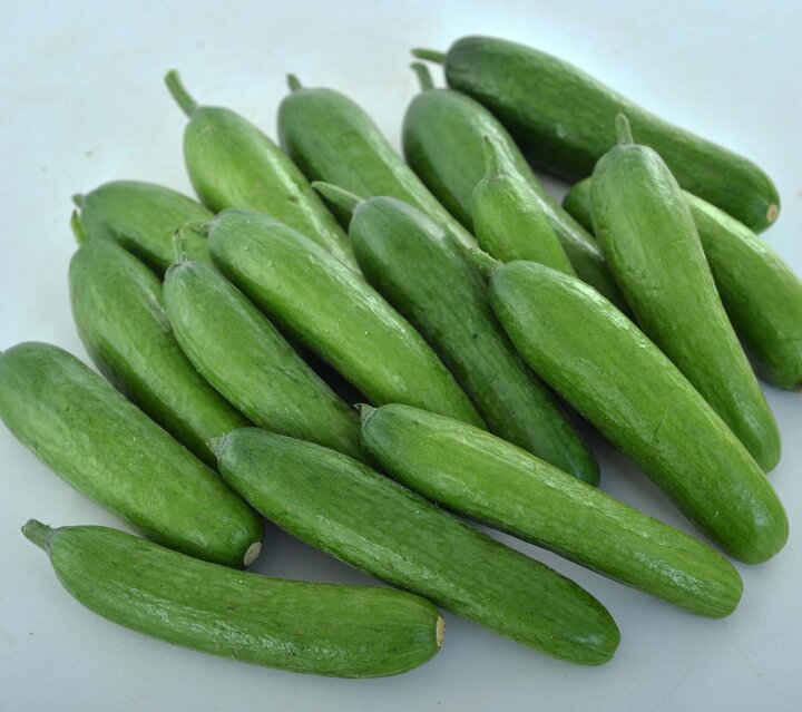
{"type": "Polygon", "coordinates": [[[646,111],[573,65],[530,47],[464,37],[443,58],[450,87],[487,106],[539,166],[569,181],[590,175],[616,143],[617,114],[679,184],[752,230],[780,212],[771,178],[751,160],[646,111]]]}

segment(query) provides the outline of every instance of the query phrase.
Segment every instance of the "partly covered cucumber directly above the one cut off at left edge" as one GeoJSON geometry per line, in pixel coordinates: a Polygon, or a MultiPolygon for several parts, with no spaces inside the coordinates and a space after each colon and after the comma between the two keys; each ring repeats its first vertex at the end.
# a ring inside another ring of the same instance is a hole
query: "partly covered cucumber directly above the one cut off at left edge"
{"type": "Polygon", "coordinates": [[[69,282],[78,333],[100,372],[215,467],[206,441],[250,423],[184,355],[165,312],[159,279],[119,245],[91,241],[72,257],[69,282]]]}

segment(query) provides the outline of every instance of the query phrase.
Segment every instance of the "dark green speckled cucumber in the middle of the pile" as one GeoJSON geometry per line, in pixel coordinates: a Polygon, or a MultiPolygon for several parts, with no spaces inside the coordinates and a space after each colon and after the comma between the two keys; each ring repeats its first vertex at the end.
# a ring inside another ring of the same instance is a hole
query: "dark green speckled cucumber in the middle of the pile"
{"type": "Polygon", "coordinates": [[[350,227],[362,273],[440,354],[490,429],[579,479],[598,464],[496,321],[487,285],[447,233],[388,197],[362,201],[350,227]]]}

